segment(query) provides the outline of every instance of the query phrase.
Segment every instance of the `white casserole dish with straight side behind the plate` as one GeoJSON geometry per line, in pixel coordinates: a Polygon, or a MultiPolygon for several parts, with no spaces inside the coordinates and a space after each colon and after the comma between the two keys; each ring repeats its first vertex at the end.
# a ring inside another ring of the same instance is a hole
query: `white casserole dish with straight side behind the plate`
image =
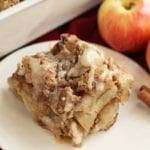
{"type": "Polygon", "coordinates": [[[99,4],[101,0],[25,0],[0,12],[0,57],[99,4]]]}

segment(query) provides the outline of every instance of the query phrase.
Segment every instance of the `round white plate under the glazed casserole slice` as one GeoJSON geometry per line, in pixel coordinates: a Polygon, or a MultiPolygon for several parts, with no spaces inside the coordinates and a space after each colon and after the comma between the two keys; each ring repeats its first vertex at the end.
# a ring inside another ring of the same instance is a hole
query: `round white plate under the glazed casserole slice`
{"type": "Polygon", "coordinates": [[[38,126],[8,88],[7,78],[16,69],[22,56],[47,50],[55,42],[45,42],[23,48],[0,63],[0,145],[5,150],[150,150],[150,109],[137,99],[137,90],[150,85],[150,76],[129,58],[99,46],[135,77],[129,101],[120,107],[116,124],[107,132],[90,135],[81,148],[55,140],[53,135],[38,126]]]}

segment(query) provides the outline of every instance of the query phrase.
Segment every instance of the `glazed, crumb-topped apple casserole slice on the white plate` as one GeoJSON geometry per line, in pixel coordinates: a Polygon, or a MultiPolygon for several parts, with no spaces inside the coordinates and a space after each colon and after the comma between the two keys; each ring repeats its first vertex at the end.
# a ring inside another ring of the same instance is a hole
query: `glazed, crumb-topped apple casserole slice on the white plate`
{"type": "Polygon", "coordinates": [[[8,83],[34,119],[81,145],[88,134],[115,123],[133,77],[101,49],[62,34],[49,51],[25,56],[8,83]]]}

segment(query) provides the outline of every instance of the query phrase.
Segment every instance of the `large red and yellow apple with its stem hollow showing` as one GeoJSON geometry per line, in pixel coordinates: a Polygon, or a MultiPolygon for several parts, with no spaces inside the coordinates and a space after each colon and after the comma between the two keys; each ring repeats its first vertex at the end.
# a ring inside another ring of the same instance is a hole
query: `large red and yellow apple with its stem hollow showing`
{"type": "Polygon", "coordinates": [[[150,0],[104,0],[98,11],[99,32],[120,52],[135,52],[150,39],[150,0]]]}

